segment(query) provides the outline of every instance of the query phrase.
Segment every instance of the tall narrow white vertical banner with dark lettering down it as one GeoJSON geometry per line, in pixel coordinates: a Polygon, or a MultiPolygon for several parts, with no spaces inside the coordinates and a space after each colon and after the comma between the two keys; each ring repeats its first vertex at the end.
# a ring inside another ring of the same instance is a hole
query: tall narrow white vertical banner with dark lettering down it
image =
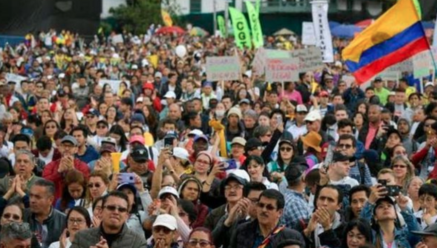
{"type": "Polygon", "coordinates": [[[316,35],[316,46],[322,51],[323,62],[334,62],[332,49],[331,30],[328,23],[328,1],[316,0],[311,2],[313,14],[314,33],[316,35]]]}

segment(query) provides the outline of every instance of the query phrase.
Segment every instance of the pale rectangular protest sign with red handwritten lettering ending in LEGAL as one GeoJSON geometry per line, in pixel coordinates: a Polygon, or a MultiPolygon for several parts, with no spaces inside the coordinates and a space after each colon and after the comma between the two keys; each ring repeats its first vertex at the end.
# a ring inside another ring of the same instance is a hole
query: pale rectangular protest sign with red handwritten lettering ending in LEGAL
{"type": "Polygon", "coordinates": [[[269,58],[266,63],[266,81],[290,82],[299,80],[298,58],[269,58]]]}

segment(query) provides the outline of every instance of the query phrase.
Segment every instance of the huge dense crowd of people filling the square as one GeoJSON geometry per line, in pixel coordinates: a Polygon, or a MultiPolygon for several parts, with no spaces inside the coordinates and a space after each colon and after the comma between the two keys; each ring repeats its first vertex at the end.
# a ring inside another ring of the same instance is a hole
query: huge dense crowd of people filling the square
{"type": "Polygon", "coordinates": [[[1,50],[2,248],[437,247],[434,82],[349,84],[339,39],[265,82],[232,38],[153,32],[1,50]],[[235,53],[240,80],[206,80],[235,53]]]}

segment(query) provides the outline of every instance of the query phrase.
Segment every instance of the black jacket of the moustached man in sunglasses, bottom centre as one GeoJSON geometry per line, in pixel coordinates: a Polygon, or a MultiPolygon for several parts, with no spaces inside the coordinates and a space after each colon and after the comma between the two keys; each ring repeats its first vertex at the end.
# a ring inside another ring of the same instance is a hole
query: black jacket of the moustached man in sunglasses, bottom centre
{"type": "MultiPolygon", "coordinates": [[[[229,248],[251,248],[254,245],[256,234],[258,233],[259,224],[258,220],[243,223],[239,225],[231,237],[231,244],[229,248]]],[[[276,235],[270,237],[270,247],[277,247],[279,242],[286,239],[299,240],[302,244],[305,244],[303,236],[296,230],[285,228],[276,235]]]]}

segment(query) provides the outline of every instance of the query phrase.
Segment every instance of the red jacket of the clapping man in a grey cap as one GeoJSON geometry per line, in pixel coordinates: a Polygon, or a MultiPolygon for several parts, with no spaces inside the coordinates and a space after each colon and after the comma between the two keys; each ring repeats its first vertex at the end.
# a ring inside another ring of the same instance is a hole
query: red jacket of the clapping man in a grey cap
{"type": "MultiPolygon", "coordinates": [[[[42,175],[45,179],[50,180],[55,184],[54,202],[56,202],[56,200],[61,197],[62,189],[64,187],[63,181],[64,181],[65,173],[58,172],[60,163],[61,163],[61,159],[51,161],[46,165],[46,167],[44,167],[43,175],[42,175]]],[[[82,174],[84,174],[85,179],[88,180],[89,168],[86,163],[84,163],[79,159],[74,159],[74,168],[82,172],[82,174]]]]}

